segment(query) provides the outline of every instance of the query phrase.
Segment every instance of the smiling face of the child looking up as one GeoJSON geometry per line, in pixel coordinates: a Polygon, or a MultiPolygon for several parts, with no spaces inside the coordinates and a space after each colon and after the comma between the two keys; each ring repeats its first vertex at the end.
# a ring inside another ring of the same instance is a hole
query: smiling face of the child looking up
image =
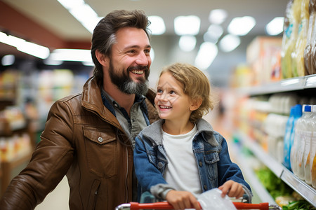
{"type": "Polygon", "coordinates": [[[165,120],[189,120],[192,113],[190,97],[183,92],[183,85],[169,72],[159,78],[154,104],[159,118],[165,120]]]}

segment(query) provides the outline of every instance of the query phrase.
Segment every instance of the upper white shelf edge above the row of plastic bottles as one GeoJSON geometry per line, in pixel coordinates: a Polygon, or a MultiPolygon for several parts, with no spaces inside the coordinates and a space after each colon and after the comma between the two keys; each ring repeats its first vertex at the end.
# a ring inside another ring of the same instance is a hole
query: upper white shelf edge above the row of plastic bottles
{"type": "Polygon", "coordinates": [[[274,83],[259,85],[254,87],[242,87],[238,89],[241,94],[259,95],[272,94],[275,92],[290,92],[296,90],[304,90],[308,88],[316,88],[316,74],[288,78],[274,83]]]}

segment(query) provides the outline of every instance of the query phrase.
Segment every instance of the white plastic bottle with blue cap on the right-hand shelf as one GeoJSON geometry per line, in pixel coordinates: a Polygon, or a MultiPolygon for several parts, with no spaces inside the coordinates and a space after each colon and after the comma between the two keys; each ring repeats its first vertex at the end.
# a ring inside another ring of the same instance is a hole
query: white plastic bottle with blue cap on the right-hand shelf
{"type": "Polygon", "coordinates": [[[301,104],[298,104],[295,106],[295,120],[294,120],[294,127],[291,132],[291,152],[290,152],[290,167],[294,174],[297,174],[297,167],[296,167],[296,149],[298,147],[298,139],[299,132],[298,128],[301,124],[301,118],[303,116],[303,106],[301,104]]]}

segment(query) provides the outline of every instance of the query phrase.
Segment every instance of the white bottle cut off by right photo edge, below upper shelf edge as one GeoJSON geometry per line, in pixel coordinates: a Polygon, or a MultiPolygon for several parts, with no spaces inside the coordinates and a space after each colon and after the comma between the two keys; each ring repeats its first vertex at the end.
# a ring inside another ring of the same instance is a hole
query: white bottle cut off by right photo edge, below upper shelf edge
{"type": "Polygon", "coordinates": [[[312,106],[312,140],[310,141],[310,181],[316,188],[316,105],[312,106]]]}

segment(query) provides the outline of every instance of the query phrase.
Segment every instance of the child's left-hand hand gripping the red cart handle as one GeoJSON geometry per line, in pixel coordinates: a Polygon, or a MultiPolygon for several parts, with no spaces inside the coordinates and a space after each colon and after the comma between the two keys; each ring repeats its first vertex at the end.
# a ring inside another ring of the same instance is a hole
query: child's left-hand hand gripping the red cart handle
{"type": "Polygon", "coordinates": [[[201,209],[195,196],[187,191],[170,190],[166,200],[174,209],[201,209]]]}

